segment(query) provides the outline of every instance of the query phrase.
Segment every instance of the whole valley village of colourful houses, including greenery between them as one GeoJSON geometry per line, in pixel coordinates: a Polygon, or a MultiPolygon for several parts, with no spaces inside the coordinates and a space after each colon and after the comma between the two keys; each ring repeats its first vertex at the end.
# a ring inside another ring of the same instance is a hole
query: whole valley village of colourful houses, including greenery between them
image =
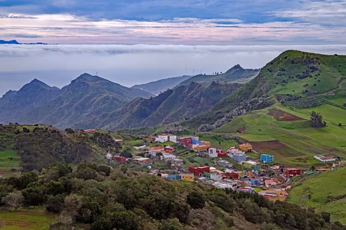
{"type": "MultiPolygon", "coordinates": [[[[198,136],[177,137],[161,134],[146,136],[149,146],[133,146],[141,151],[138,156],[125,157],[107,153],[106,158],[118,164],[135,164],[148,173],[167,178],[209,184],[219,189],[233,189],[242,193],[258,193],[270,200],[284,201],[288,197],[293,178],[329,171],[346,165],[346,161],[333,155],[316,155],[320,162],[333,162],[328,169],[303,169],[285,167],[275,163],[274,155],[257,153],[250,143],[230,146],[227,151],[214,148],[198,136]],[[252,157],[258,154],[258,159],[252,157]],[[191,157],[203,159],[196,165],[191,157]],[[192,164],[193,163],[193,164],[192,164]]],[[[123,140],[115,140],[124,144],[123,140]]]]}

